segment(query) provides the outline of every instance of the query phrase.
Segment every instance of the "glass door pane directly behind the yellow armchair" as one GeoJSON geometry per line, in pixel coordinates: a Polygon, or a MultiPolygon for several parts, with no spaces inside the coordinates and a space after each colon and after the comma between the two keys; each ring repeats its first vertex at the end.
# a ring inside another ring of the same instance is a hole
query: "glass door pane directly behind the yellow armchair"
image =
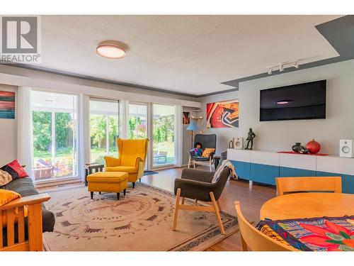
{"type": "Polygon", "coordinates": [[[119,102],[90,98],[91,162],[104,164],[106,155],[117,157],[119,102]]]}

